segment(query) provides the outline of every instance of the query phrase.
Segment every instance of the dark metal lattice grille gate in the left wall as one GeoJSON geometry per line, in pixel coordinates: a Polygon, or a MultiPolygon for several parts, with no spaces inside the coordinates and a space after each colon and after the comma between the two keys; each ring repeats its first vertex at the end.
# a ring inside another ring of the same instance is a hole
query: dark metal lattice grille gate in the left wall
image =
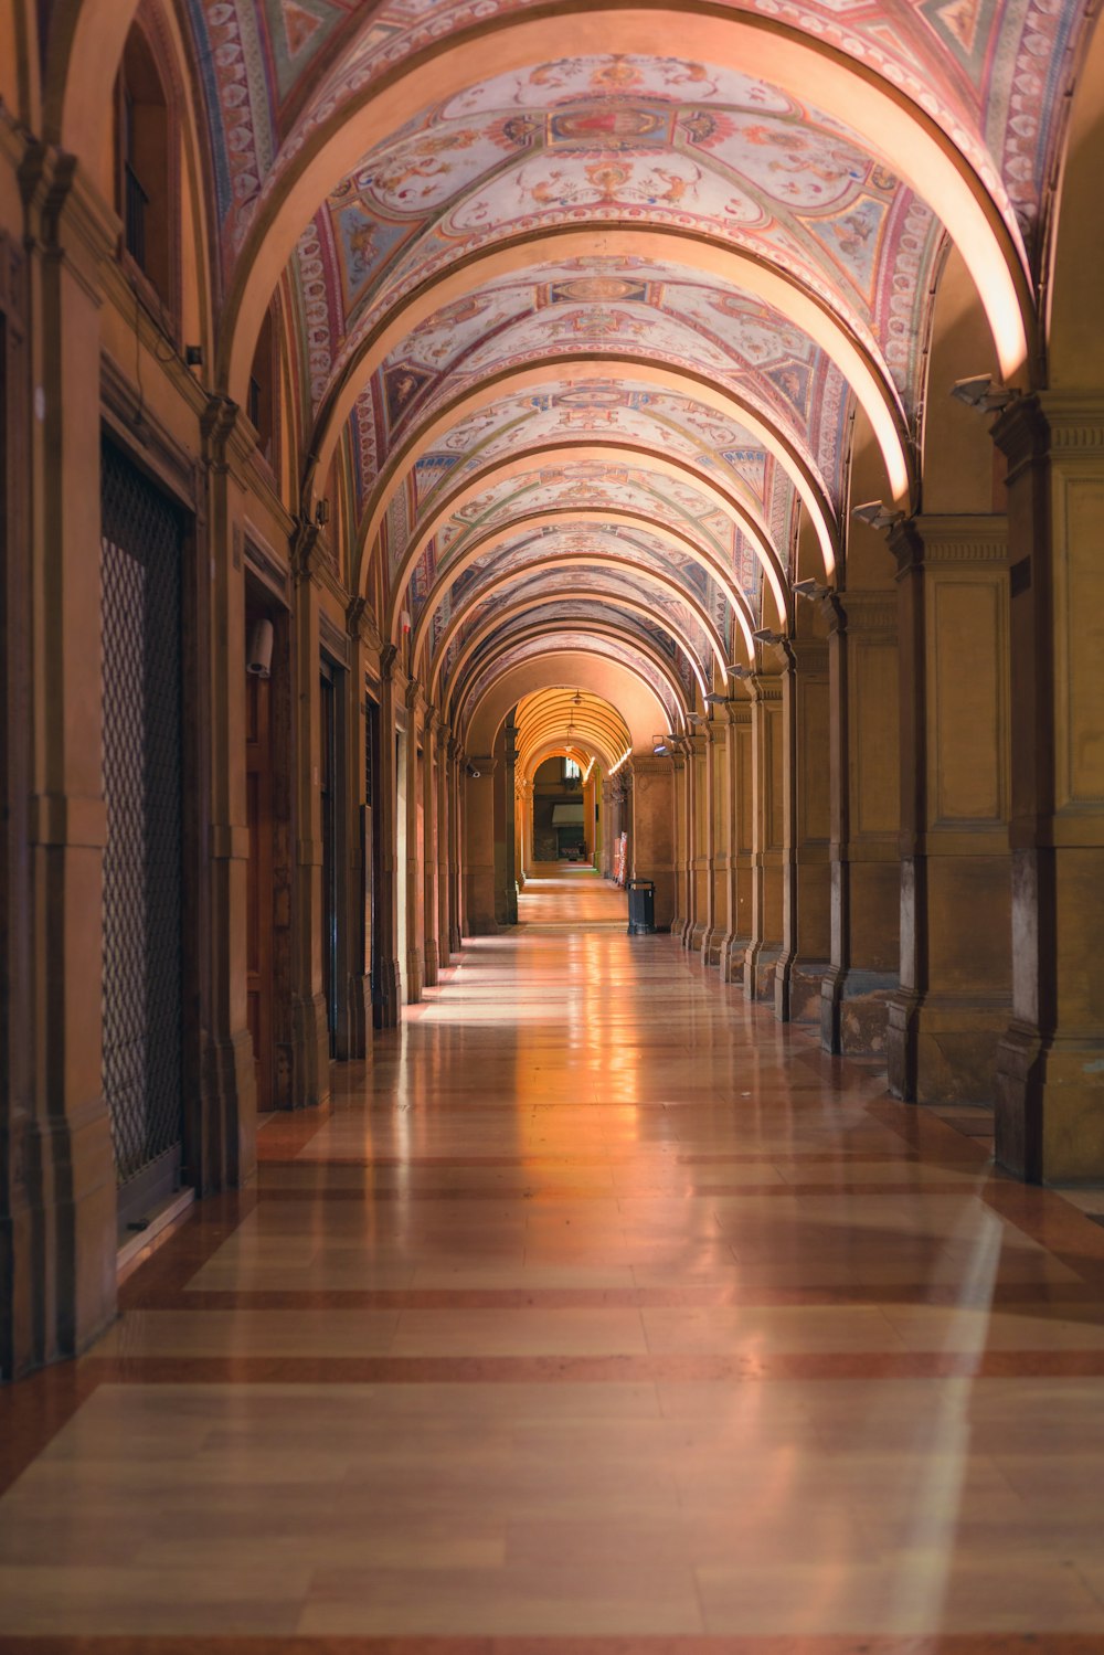
{"type": "Polygon", "coordinates": [[[103,1084],[126,1221],[180,1175],[182,520],[108,442],[101,478],[103,1084]]]}

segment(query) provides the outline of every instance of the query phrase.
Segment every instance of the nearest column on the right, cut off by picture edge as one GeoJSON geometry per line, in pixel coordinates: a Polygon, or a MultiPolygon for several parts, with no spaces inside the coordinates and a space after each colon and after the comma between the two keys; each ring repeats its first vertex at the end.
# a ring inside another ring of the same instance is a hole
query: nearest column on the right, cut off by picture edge
{"type": "Polygon", "coordinates": [[[996,1158],[1104,1177],[1104,399],[1025,397],[1008,458],[1013,1010],[996,1158]]]}

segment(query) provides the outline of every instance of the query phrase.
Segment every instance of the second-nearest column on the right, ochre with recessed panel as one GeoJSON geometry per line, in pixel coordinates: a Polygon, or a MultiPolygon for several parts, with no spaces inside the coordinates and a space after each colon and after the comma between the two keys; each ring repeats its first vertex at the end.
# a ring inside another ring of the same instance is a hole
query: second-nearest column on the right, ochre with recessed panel
{"type": "Polygon", "coordinates": [[[1011,1013],[1008,523],[920,516],[900,594],[900,988],[889,1089],[991,1102],[1011,1013]]]}

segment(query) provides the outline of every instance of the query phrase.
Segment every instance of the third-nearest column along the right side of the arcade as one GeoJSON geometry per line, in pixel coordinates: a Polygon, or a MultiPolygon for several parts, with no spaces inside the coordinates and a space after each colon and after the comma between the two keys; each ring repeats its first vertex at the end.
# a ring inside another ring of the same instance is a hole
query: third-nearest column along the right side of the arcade
{"type": "Polygon", "coordinates": [[[897,604],[887,591],[828,601],[831,965],[821,1044],[886,1049],[900,955],[897,604]]]}

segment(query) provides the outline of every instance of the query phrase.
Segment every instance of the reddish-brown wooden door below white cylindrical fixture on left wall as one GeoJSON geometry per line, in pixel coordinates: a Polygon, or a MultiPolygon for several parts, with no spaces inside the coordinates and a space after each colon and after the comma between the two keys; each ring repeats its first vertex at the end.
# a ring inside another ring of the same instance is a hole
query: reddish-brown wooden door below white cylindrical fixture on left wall
{"type": "Polygon", "coordinates": [[[245,991],[253,1038],[257,1109],[266,1114],[275,1107],[271,682],[252,674],[245,700],[245,799],[250,831],[245,991]]]}

